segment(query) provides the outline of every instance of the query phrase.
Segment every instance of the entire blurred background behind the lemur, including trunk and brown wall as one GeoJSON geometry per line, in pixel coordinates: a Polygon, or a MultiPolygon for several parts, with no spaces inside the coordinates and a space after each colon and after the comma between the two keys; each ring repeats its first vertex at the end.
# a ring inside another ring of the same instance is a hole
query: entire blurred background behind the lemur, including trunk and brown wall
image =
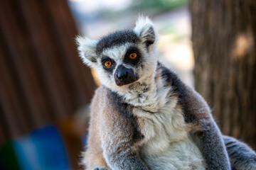
{"type": "Polygon", "coordinates": [[[0,169],[80,169],[100,83],[74,38],[132,28],[139,13],[159,32],[159,60],[256,149],[254,0],[1,0],[0,169]]]}

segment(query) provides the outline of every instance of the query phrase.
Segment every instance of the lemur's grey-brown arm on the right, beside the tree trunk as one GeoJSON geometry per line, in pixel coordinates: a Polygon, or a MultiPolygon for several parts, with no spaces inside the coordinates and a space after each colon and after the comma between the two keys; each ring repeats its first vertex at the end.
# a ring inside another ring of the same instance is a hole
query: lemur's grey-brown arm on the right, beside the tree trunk
{"type": "Polygon", "coordinates": [[[182,86],[183,92],[179,97],[185,120],[193,126],[193,137],[206,159],[208,169],[230,169],[223,136],[206,101],[190,87],[185,84],[182,86]]]}

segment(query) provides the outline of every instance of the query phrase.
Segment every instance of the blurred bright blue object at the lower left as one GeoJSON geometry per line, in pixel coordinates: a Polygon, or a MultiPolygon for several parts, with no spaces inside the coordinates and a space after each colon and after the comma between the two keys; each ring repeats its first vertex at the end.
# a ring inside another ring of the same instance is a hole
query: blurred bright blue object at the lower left
{"type": "Polygon", "coordinates": [[[52,125],[34,130],[12,145],[22,170],[71,169],[63,139],[52,125]]]}

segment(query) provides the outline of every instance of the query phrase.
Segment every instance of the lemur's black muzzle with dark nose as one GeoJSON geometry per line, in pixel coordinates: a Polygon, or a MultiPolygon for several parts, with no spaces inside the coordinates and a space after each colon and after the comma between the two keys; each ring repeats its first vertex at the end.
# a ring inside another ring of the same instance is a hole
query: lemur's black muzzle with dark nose
{"type": "Polygon", "coordinates": [[[134,81],[137,81],[139,77],[134,74],[132,69],[127,69],[123,65],[117,67],[116,72],[114,73],[114,81],[117,86],[123,86],[125,84],[131,84],[134,81]]]}

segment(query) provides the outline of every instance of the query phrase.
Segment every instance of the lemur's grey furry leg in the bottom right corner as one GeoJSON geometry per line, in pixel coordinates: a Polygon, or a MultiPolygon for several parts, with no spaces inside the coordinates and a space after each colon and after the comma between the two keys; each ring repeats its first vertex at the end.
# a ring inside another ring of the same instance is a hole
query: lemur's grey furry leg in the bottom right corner
{"type": "Polygon", "coordinates": [[[245,143],[223,135],[232,169],[256,169],[256,153],[245,143]]]}

